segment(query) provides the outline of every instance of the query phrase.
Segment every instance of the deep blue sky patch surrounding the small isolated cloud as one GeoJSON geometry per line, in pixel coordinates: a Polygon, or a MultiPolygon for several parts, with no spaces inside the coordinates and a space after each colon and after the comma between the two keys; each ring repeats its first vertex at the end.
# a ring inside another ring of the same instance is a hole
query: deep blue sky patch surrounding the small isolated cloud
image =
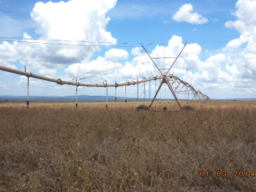
{"type": "Polygon", "coordinates": [[[112,18],[108,29],[113,36],[125,42],[166,43],[170,36],[182,36],[184,42],[198,43],[207,49],[216,50],[225,46],[230,38],[239,34],[225,28],[224,24],[235,17],[235,1],[118,1],[114,9],[107,14],[112,18]],[[224,2],[224,3],[223,3],[224,2]],[[210,21],[198,25],[188,22],[175,22],[172,15],[183,4],[192,4],[194,12],[199,12],[210,21]],[[130,34],[130,35],[128,35],[130,34]],[[231,35],[231,37],[230,37],[231,35]],[[132,36],[132,38],[131,38],[132,36]]]}

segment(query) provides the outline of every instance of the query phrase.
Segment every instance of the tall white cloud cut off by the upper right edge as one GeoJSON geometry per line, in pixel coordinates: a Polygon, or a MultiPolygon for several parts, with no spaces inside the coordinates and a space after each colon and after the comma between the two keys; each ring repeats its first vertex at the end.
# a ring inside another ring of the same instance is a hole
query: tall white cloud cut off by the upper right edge
{"type": "Polygon", "coordinates": [[[224,50],[233,56],[231,62],[238,67],[241,77],[256,80],[256,0],[238,0],[236,8],[233,14],[237,20],[228,21],[225,26],[235,28],[240,36],[228,42],[224,50]]]}

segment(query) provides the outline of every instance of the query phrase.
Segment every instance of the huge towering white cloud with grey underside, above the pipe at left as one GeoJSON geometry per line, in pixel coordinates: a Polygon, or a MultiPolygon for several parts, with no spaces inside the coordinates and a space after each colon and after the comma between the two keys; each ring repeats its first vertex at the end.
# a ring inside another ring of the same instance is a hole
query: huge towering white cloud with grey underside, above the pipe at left
{"type": "MultiPolygon", "coordinates": [[[[1,54],[4,54],[1,58],[6,57],[5,62],[19,61],[28,70],[43,75],[56,75],[65,65],[90,62],[100,46],[117,42],[106,29],[110,18],[105,15],[116,1],[38,2],[30,15],[43,40],[28,40],[33,37],[24,33],[22,41],[33,43],[4,42],[0,45],[1,54]]],[[[1,64],[7,66],[4,62],[1,64]]]]}

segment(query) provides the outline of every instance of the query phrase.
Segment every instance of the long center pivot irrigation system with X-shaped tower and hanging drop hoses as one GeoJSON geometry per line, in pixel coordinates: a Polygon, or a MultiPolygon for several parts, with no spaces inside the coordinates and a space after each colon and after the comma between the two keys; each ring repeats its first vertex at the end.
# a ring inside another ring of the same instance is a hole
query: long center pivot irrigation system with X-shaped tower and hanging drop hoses
{"type": "MultiPolygon", "coordinates": [[[[107,84],[107,81],[104,80],[103,84],[86,84],[86,83],[79,83],[77,82],[77,78],[76,82],[70,82],[70,81],[64,81],[61,79],[53,79],[53,78],[48,78],[45,76],[40,76],[40,75],[36,75],[36,74],[32,74],[29,72],[26,72],[26,66],[25,66],[25,71],[21,71],[21,70],[16,70],[16,69],[12,69],[12,68],[8,68],[8,67],[4,67],[4,66],[0,66],[0,70],[6,71],[6,72],[11,72],[11,73],[15,73],[15,74],[20,74],[23,76],[28,77],[28,100],[27,100],[27,107],[29,105],[29,78],[36,78],[36,79],[41,79],[41,80],[46,80],[46,81],[50,81],[50,82],[55,82],[59,85],[74,85],[76,86],[76,108],[78,106],[77,103],[77,88],[78,86],[86,86],[86,87],[106,87],[107,90],[107,98],[106,98],[106,108],[108,108],[108,87],[119,87],[119,86],[130,86],[130,85],[135,85],[135,84],[140,84],[140,83],[144,83],[145,82],[150,82],[152,80],[160,80],[160,86],[158,87],[158,90],[156,91],[156,94],[154,96],[154,98],[152,99],[152,102],[150,103],[149,108],[152,106],[154,100],[156,99],[156,96],[158,95],[158,92],[160,91],[161,87],[165,84],[168,86],[168,90],[170,90],[170,92],[172,93],[172,96],[174,96],[176,102],[178,103],[178,105],[180,106],[180,108],[182,108],[178,97],[179,96],[183,96],[184,94],[188,97],[191,98],[190,95],[192,95],[191,100],[200,100],[200,101],[209,101],[210,98],[204,94],[202,94],[202,92],[200,91],[196,91],[194,89],[194,87],[192,87],[190,84],[188,84],[187,82],[181,80],[180,78],[178,78],[177,76],[174,76],[172,74],[169,74],[169,71],[171,70],[171,68],[174,66],[174,63],[176,62],[176,60],[178,59],[178,57],[180,56],[181,52],[184,50],[185,46],[187,45],[187,43],[184,45],[184,47],[182,48],[182,50],[180,51],[180,53],[178,54],[177,57],[161,57],[163,59],[168,59],[168,58],[172,58],[174,59],[174,62],[171,64],[171,66],[169,68],[166,68],[165,64],[163,64],[163,66],[159,63],[156,63],[154,60],[155,59],[160,59],[160,58],[153,58],[150,56],[150,54],[148,53],[148,51],[146,50],[146,48],[142,45],[142,48],[146,51],[146,53],[148,54],[149,58],[152,60],[152,62],[154,63],[154,65],[156,66],[156,68],[159,71],[159,76],[156,75],[155,77],[151,77],[149,79],[144,78],[144,80],[138,80],[137,81],[132,81],[129,82],[129,80],[126,80],[126,83],[121,83],[118,84],[115,82],[115,84],[107,84]],[[160,68],[162,66],[162,68],[160,68]]],[[[145,87],[144,87],[145,89],[145,87]]],[[[144,90],[145,92],[145,90],[144,90]]]]}

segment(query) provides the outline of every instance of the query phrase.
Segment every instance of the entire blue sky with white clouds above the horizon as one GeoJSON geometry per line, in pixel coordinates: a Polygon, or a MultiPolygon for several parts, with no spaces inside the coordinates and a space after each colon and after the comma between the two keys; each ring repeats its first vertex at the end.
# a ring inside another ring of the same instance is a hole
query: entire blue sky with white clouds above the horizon
{"type": "MultiPolygon", "coordinates": [[[[166,55],[177,56],[188,42],[171,74],[210,98],[255,98],[255,10],[256,0],[0,0],[0,65],[19,70],[26,65],[28,72],[56,79],[88,73],[93,76],[80,82],[123,83],[158,74],[150,60],[139,61],[146,56],[141,44],[152,55],[166,48],[166,55]],[[104,73],[94,75],[98,72],[104,73]]],[[[0,95],[26,95],[26,80],[0,71],[0,95]]],[[[32,79],[30,89],[31,95],[65,96],[75,87],[32,79]]],[[[135,89],[129,87],[129,96],[136,97],[135,89]]],[[[105,95],[103,90],[80,87],[78,94],[105,95]]],[[[124,96],[124,88],[119,90],[124,96]]]]}

